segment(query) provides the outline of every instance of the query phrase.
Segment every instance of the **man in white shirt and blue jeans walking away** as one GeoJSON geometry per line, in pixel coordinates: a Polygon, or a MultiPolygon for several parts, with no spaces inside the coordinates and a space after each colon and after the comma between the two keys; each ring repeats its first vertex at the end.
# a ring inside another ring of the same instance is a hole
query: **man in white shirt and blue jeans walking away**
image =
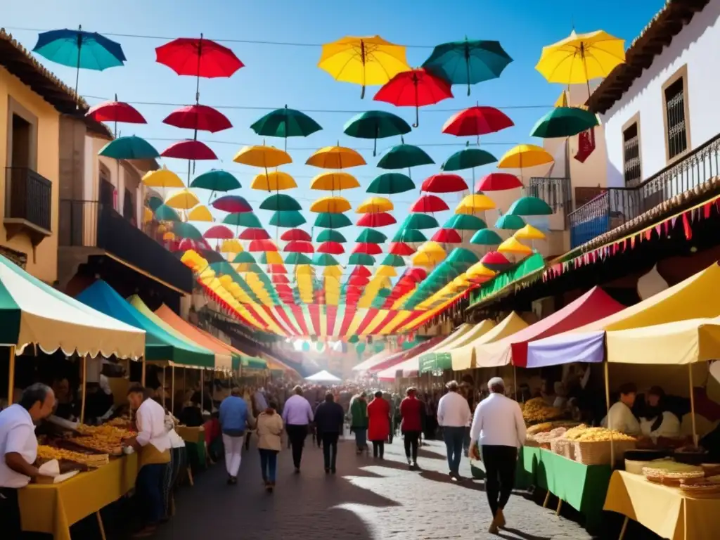
{"type": "Polygon", "coordinates": [[[458,392],[459,386],[456,381],[450,381],[446,387],[448,392],[438,402],[438,424],[443,428],[450,477],[456,482],[460,479],[465,428],[472,420],[472,412],[467,400],[458,392]]]}

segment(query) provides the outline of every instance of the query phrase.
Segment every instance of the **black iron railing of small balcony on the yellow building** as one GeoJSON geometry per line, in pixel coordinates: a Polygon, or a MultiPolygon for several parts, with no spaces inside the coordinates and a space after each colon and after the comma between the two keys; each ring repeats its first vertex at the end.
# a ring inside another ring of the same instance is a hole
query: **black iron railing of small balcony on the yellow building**
{"type": "Polygon", "coordinates": [[[50,230],[53,183],[27,167],[5,168],[5,217],[50,230]]]}

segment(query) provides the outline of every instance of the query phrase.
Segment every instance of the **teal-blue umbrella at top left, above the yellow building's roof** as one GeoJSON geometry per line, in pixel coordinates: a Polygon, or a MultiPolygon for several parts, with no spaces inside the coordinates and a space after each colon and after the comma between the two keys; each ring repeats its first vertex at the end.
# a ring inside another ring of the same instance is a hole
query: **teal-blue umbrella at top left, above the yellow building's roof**
{"type": "Polygon", "coordinates": [[[78,96],[80,68],[103,71],[107,68],[122,66],[125,53],[120,43],[107,39],[97,32],[85,32],[83,27],[78,30],[50,30],[37,36],[37,43],[32,49],[51,62],[76,69],[75,96],[78,96]]]}

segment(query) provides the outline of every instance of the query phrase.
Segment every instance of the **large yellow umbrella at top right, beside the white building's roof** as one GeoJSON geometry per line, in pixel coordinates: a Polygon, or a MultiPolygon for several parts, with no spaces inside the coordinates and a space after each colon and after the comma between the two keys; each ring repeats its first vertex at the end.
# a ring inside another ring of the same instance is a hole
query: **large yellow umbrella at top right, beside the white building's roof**
{"type": "Polygon", "coordinates": [[[625,61],[625,40],[603,30],[576,34],[542,48],[535,69],[551,83],[583,84],[607,77],[625,61]]]}

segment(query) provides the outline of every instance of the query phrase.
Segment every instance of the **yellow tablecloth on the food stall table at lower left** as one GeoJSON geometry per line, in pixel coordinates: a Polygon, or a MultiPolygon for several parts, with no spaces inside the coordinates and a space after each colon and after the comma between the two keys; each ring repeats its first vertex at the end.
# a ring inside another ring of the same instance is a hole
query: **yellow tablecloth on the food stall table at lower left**
{"type": "Polygon", "coordinates": [[[138,454],[130,454],[60,484],[31,484],[19,491],[22,530],[71,540],[71,525],[120,499],[137,476],[138,454]]]}

